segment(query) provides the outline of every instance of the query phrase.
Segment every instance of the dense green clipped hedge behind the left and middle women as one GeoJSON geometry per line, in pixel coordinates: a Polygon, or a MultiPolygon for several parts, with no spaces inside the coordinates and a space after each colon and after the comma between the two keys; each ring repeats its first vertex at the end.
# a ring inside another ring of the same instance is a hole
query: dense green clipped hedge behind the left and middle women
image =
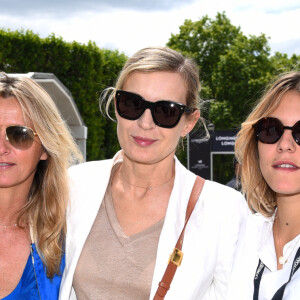
{"type": "Polygon", "coordinates": [[[54,73],[71,91],[88,127],[87,159],[111,157],[118,149],[115,124],[100,116],[98,96],[114,84],[126,56],[94,43],[68,43],[54,34],[0,30],[0,70],[54,73]]]}

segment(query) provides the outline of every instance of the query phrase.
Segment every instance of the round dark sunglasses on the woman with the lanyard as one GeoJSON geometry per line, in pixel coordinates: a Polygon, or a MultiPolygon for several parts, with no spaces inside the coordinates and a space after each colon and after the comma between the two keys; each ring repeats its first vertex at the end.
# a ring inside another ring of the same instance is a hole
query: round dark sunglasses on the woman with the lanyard
{"type": "Polygon", "coordinates": [[[277,118],[262,118],[256,124],[253,125],[255,129],[256,137],[259,141],[265,144],[275,144],[285,129],[292,131],[292,136],[295,142],[300,145],[300,121],[294,124],[294,126],[283,126],[283,124],[277,118]]]}

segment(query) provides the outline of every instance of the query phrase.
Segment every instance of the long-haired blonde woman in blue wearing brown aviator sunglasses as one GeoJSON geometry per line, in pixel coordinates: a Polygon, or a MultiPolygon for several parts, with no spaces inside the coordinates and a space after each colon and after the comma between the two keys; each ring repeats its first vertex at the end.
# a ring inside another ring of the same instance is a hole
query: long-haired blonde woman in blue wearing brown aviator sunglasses
{"type": "Polygon", "coordinates": [[[75,158],[50,96],[29,78],[0,73],[1,299],[58,298],[75,158]]]}

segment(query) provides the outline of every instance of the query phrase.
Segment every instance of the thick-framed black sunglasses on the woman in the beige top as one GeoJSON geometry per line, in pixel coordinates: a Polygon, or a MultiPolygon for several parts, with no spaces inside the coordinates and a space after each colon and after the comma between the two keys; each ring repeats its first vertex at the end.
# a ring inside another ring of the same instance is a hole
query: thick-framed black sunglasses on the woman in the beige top
{"type": "Polygon", "coordinates": [[[138,94],[121,90],[116,91],[116,106],[118,114],[127,120],[139,119],[149,108],[153,122],[163,128],[175,127],[183,113],[190,114],[195,110],[173,101],[150,102],[138,94]]]}

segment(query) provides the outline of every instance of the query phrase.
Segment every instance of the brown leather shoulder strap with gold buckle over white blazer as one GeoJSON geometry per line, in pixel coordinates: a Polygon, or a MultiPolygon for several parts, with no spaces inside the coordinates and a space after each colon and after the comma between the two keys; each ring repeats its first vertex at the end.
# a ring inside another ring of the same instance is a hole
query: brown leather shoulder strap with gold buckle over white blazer
{"type": "Polygon", "coordinates": [[[183,226],[183,229],[181,231],[179,239],[176,243],[174,251],[170,256],[170,260],[169,260],[168,266],[166,268],[165,274],[164,274],[161,282],[158,285],[158,288],[157,288],[157,291],[156,291],[156,294],[155,294],[153,300],[161,300],[161,299],[165,298],[165,295],[167,294],[168,290],[170,289],[170,285],[171,285],[171,282],[176,273],[177,267],[180,266],[182,256],[183,256],[181,249],[182,249],[182,244],[183,244],[185,227],[186,227],[186,224],[191,216],[191,213],[197,203],[197,200],[199,199],[204,182],[205,182],[205,180],[202,177],[200,177],[200,176],[196,177],[194,187],[191,192],[189,203],[188,203],[188,206],[186,209],[185,224],[183,226]]]}

